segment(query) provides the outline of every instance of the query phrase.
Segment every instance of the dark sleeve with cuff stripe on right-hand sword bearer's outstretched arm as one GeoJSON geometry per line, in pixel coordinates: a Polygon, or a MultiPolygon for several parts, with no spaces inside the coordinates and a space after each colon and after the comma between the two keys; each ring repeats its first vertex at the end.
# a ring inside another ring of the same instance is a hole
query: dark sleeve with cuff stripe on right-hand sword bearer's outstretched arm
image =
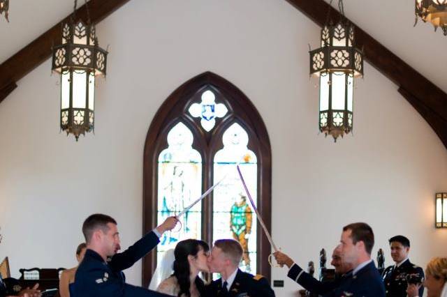
{"type": "Polygon", "coordinates": [[[344,278],[349,277],[349,275],[351,274],[346,273],[341,277],[337,277],[333,282],[320,282],[309,273],[303,271],[302,268],[298,266],[298,264],[293,264],[293,266],[287,273],[288,277],[290,277],[295,282],[298,282],[298,284],[300,284],[307,291],[322,296],[324,296],[325,294],[329,294],[331,291],[336,289],[339,286],[340,282],[342,282],[344,278]]]}

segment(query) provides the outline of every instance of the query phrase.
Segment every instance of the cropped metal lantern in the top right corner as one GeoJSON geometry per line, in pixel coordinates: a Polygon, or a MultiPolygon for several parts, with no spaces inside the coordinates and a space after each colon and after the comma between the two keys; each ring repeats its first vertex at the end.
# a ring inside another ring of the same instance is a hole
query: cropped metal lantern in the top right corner
{"type": "Polygon", "coordinates": [[[423,22],[431,22],[434,31],[441,27],[447,36],[447,0],[416,0],[415,13],[415,26],[420,17],[423,22]]]}

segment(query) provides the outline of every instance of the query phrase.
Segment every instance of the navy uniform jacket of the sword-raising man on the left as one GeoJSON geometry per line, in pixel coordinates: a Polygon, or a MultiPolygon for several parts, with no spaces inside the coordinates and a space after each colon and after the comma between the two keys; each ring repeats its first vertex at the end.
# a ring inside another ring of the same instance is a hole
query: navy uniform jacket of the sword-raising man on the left
{"type": "Polygon", "coordinates": [[[161,297],[168,296],[124,282],[122,270],[131,267],[136,261],[159,243],[159,237],[150,232],[128,250],[115,254],[106,263],[93,250],[87,249],[84,259],[75,274],[75,282],[70,285],[73,297],[161,297]]]}

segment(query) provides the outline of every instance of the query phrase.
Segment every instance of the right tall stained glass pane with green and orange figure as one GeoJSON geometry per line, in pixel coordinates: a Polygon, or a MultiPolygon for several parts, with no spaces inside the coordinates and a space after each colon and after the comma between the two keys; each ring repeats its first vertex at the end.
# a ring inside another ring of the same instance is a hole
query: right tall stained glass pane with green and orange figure
{"type": "Polygon", "coordinates": [[[256,215],[251,209],[245,190],[235,169],[240,169],[257,203],[257,159],[247,148],[249,137],[238,123],[223,133],[223,148],[214,155],[214,183],[227,172],[228,176],[214,189],[213,240],[235,238],[244,249],[240,264],[242,271],[256,273],[256,215]]]}

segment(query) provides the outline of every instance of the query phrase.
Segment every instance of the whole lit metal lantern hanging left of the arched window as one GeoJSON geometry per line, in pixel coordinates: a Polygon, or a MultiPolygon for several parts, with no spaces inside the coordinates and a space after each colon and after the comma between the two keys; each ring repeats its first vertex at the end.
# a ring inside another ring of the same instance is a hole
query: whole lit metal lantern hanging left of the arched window
{"type": "Polygon", "coordinates": [[[98,46],[89,17],[85,24],[73,13],[62,24],[62,44],[53,47],[52,70],[61,75],[61,130],[75,135],[76,141],[94,130],[95,77],[105,77],[107,54],[98,46]]]}

